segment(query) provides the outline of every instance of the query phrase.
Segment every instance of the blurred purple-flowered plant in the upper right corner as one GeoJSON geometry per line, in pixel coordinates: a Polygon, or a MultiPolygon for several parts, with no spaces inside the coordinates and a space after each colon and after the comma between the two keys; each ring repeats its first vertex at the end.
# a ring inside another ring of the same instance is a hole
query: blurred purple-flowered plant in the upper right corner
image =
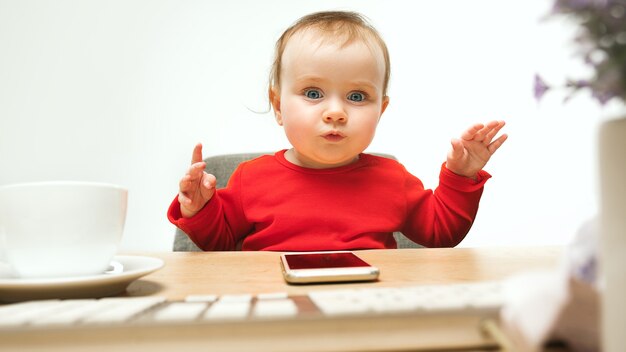
{"type": "MultiPolygon", "coordinates": [[[[626,0],[555,0],[552,16],[569,16],[580,25],[574,40],[593,69],[589,79],[567,80],[565,100],[587,88],[602,105],[613,98],[626,103],[626,0]]],[[[553,87],[535,75],[534,88],[539,100],[553,87]]]]}

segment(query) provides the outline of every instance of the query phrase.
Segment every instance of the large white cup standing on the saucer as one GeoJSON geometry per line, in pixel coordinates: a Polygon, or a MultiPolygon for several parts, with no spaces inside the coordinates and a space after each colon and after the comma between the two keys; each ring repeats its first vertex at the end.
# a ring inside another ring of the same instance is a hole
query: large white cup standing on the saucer
{"type": "Polygon", "coordinates": [[[0,186],[0,251],[20,278],[101,274],[124,232],[128,191],[90,182],[0,186]]]}

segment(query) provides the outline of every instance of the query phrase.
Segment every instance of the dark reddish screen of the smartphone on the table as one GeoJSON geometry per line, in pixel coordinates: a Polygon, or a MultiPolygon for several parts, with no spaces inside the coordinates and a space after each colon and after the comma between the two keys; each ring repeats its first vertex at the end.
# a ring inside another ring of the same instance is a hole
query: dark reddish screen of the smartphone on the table
{"type": "Polygon", "coordinates": [[[353,268],[370,266],[354,253],[308,253],[285,255],[289,268],[298,269],[326,269],[326,268],[353,268]]]}

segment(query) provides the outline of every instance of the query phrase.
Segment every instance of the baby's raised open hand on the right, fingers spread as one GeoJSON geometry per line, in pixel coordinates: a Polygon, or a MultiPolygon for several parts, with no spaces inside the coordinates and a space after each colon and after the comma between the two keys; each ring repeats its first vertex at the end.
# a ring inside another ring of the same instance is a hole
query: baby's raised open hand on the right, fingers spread
{"type": "Polygon", "coordinates": [[[463,132],[461,139],[453,139],[446,162],[448,170],[457,175],[476,179],[478,172],[508,138],[503,134],[492,141],[502,127],[504,121],[491,121],[487,125],[477,123],[463,132]]]}

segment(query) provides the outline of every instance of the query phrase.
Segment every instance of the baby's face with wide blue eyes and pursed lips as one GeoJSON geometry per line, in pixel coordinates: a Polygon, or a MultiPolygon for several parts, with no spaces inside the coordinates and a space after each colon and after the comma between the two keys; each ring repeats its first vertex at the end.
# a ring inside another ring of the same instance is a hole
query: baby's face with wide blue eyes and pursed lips
{"type": "Polygon", "coordinates": [[[282,60],[280,92],[272,103],[294,147],[287,159],[310,168],[354,162],[374,138],[388,103],[380,48],[360,41],[340,47],[307,31],[289,39],[282,60]]]}

